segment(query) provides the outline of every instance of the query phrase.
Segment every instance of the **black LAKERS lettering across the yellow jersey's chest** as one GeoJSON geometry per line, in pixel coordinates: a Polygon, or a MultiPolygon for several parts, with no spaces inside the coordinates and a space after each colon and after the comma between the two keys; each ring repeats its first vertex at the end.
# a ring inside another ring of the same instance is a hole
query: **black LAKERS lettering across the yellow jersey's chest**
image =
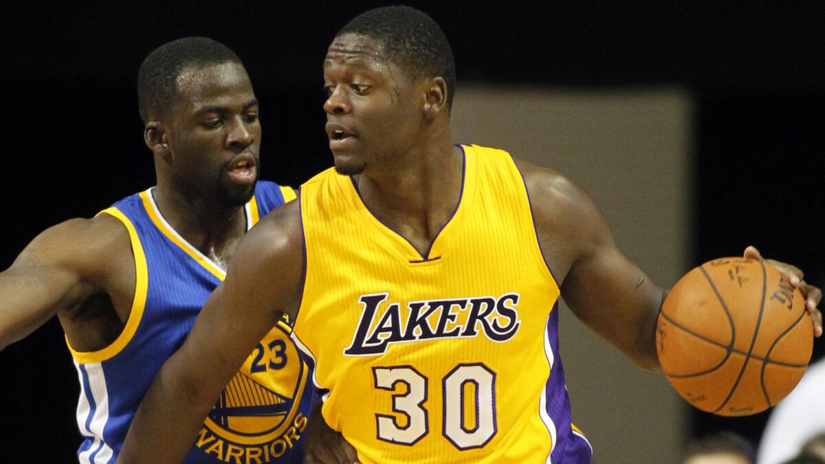
{"type": "Polygon", "coordinates": [[[387,302],[389,293],[362,295],[361,320],[348,356],[382,354],[389,343],[412,343],[433,339],[465,339],[483,334],[494,342],[505,342],[521,326],[520,295],[478,296],[449,300],[387,302]]]}

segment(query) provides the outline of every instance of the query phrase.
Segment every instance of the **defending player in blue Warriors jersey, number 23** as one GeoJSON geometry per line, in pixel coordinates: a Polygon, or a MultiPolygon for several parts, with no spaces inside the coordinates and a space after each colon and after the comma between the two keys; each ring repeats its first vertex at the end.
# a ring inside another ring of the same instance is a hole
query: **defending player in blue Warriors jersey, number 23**
{"type": "MultiPolygon", "coordinates": [[[[66,332],[81,386],[80,462],[115,462],[140,399],[243,234],[295,198],[257,182],[258,102],[226,46],[192,37],[160,46],[139,69],[138,97],[157,186],[45,230],[0,273],[0,348],[55,314],[66,332]]],[[[185,462],[303,462],[312,389],[290,331],[276,318],[249,347],[185,462]]]]}

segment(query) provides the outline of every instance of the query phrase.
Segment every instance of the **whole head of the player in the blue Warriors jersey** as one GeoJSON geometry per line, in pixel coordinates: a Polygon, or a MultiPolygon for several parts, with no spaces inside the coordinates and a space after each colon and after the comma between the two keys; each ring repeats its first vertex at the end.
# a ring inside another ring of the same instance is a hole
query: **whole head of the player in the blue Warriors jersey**
{"type": "Polygon", "coordinates": [[[205,37],[161,45],[140,65],[138,103],[158,182],[173,182],[182,193],[219,206],[249,200],[261,125],[237,54],[205,37]]]}

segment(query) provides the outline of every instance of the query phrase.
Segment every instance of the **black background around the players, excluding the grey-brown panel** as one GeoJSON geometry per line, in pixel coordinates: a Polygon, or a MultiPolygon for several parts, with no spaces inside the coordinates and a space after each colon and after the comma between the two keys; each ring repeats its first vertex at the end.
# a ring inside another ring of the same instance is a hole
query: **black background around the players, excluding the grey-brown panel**
{"type": "MultiPolygon", "coordinates": [[[[445,30],[460,84],[686,88],[695,97],[691,263],[756,244],[825,286],[825,3],[648,3],[409,2],[445,30]]],[[[5,7],[0,268],[46,227],[153,184],[135,76],[168,40],[210,36],[244,60],[262,102],[262,178],[299,185],[331,165],[323,55],[338,28],[380,4],[5,7]]],[[[821,357],[825,343],[814,350],[821,357]]],[[[56,320],[0,353],[0,372],[0,461],[76,459],[77,374],[56,320]]],[[[690,431],[758,440],[766,417],[693,412],[690,431]]]]}

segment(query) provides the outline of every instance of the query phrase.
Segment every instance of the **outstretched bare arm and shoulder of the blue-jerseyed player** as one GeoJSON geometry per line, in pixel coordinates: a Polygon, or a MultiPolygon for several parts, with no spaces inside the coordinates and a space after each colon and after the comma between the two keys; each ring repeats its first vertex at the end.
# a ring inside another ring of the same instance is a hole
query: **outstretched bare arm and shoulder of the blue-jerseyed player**
{"type": "Polygon", "coordinates": [[[134,274],[128,231],[115,218],[67,220],[44,230],[0,272],[0,347],[59,315],[74,347],[97,349],[89,340],[100,341],[101,328],[85,317],[85,303],[105,293],[125,320],[134,274]]]}

